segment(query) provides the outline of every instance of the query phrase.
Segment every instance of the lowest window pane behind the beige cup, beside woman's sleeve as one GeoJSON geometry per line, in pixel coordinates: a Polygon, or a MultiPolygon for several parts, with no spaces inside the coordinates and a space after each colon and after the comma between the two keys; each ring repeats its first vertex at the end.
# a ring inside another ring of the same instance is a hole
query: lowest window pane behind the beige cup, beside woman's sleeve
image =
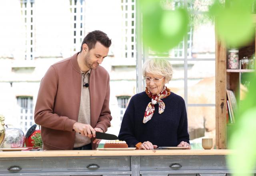
{"type": "Polygon", "coordinates": [[[202,149],[202,137],[213,138],[215,148],[215,107],[188,106],[188,133],[192,149],[202,149]]]}

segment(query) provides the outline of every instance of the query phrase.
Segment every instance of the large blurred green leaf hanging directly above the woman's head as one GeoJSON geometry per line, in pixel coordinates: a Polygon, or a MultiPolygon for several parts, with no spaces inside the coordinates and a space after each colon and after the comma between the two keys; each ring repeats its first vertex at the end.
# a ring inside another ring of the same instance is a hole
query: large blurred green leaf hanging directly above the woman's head
{"type": "Polygon", "coordinates": [[[188,28],[186,10],[164,10],[160,0],[142,0],[140,3],[142,40],[146,46],[158,52],[165,52],[183,40],[188,28]]]}

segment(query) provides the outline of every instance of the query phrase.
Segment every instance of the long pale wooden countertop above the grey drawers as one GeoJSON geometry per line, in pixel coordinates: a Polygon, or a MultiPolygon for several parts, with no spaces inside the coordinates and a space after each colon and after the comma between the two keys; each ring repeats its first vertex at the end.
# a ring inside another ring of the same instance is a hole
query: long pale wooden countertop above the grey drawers
{"type": "Polygon", "coordinates": [[[53,156],[228,155],[231,150],[55,150],[0,152],[0,158],[53,156]]]}

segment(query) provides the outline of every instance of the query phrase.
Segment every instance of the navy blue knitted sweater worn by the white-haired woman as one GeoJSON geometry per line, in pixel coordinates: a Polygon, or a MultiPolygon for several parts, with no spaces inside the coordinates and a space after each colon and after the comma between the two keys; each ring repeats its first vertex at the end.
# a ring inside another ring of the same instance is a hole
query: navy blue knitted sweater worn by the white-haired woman
{"type": "Polygon", "coordinates": [[[149,141],[153,145],[175,147],[181,141],[189,143],[188,120],[183,98],[171,92],[170,96],[161,99],[165,104],[162,114],[158,113],[158,104],[148,122],[143,117],[151,98],[146,92],[134,95],[124,113],[119,140],[124,140],[129,147],[138,142],[149,141]]]}

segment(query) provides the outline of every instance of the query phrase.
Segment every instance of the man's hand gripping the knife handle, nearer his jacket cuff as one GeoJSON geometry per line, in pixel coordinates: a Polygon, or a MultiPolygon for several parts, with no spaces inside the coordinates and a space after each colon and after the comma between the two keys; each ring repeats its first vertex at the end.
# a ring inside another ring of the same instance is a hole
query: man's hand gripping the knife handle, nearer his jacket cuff
{"type": "Polygon", "coordinates": [[[75,122],[73,125],[73,130],[75,130],[76,132],[79,132],[80,134],[84,135],[84,136],[88,136],[88,138],[92,138],[95,137],[95,130],[92,128],[92,126],[88,125],[88,124],[82,124],[79,122],[75,122]]]}

